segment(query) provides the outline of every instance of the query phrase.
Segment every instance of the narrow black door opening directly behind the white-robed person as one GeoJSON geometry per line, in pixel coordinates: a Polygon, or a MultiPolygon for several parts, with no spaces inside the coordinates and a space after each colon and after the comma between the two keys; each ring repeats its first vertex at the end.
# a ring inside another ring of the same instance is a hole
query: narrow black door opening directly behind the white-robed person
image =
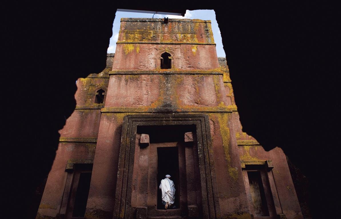
{"type": "MultiPolygon", "coordinates": [[[[162,179],[165,179],[165,175],[169,174],[172,177],[175,186],[175,205],[177,209],[180,207],[179,204],[179,150],[178,147],[160,147],[158,148],[158,188],[162,179]]],[[[162,205],[161,189],[158,189],[158,203],[157,209],[165,209],[162,205]]],[[[172,208],[170,208],[172,209],[172,208]]]]}

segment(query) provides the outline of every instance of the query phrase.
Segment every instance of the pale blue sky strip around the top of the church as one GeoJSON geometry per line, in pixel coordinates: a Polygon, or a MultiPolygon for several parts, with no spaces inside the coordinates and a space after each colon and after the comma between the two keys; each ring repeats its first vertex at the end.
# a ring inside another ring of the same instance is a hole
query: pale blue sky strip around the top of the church
{"type": "MultiPolygon", "coordinates": [[[[121,18],[152,18],[153,14],[147,13],[133,13],[133,12],[116,12],[116,17],[113,23],[113,36],[110,38],[110,44],[108,48],[108,53],[115,53],[116,50],[116,41],[118,38],[118,31],[120,30],[120,20],[121,18]]],[[[214,41],[217,44],[217,55],[218,57],[225,57],[225,51],[223,49],[223,44],[221,41],[220,30],[218,27],[218,23],[216,20],[216,13],[214,10],[194,10],[194,11],[186,11],[184,17],[176,16],[176,15],[163,15],[163,14],[155,14],[154,18],[189,18],[189,19],[202,19],[202,20],[211,20],[212,32],[214,41]]]]}

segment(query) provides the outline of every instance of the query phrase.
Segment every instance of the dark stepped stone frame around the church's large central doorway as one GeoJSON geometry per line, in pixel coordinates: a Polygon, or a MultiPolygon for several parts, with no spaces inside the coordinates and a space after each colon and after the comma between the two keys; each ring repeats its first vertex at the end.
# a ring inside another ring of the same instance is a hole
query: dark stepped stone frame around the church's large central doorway
{"type": "MultiPolygon", "coordinates": [[[[218,197],[218,192],[214,186],[216,185],[214,163],[213,159],[210,159],[213,155],[211,154],[209,118],[205,114],[137,114],[124,117],[113,218],[134,218],[136,214],[136,208],[132,207],[131,202],[136,133],[139,126],[154,125],[192,125],[195,127],[202,192],[201,203],[198,203],[199,215],[202,218],[216,218],[218,203],[214,196],[218,197]]],[[[181,213],[182,217],[186,218],[191,215],[191,206],[182,209],[184,209],[181,213]]]]}

